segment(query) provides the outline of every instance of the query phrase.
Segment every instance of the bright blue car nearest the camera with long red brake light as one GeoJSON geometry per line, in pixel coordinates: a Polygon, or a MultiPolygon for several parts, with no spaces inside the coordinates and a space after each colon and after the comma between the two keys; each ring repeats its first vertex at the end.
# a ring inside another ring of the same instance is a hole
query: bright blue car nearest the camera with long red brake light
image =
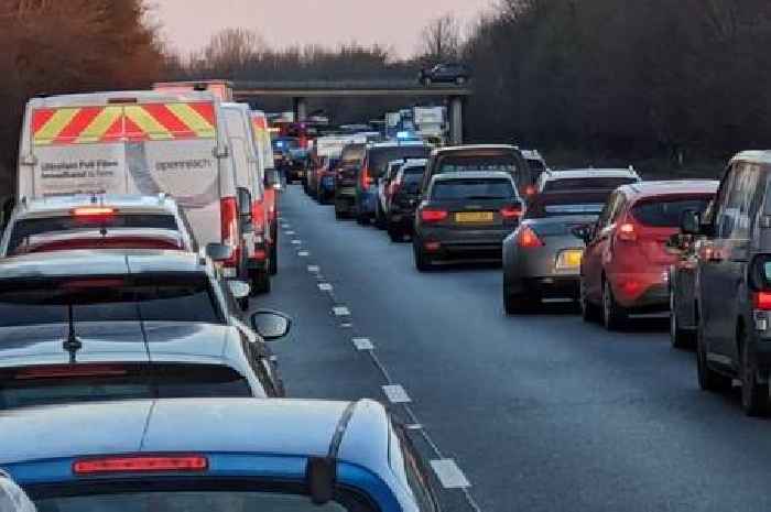
{"type": "Polygon", "coordinates": [[[377,402],[165,399],[0,414],[0,471],[39,512],[435,512],[377,402]]]}

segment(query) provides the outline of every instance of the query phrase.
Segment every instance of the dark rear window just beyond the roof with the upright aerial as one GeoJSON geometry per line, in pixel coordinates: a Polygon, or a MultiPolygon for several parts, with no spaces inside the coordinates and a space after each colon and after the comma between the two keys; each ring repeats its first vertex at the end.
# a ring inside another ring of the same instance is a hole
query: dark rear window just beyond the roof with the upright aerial
{"type": "Polygon", "coordinates": [[[0,327],[83,322],[224,324],[204,273],[0,279],[0,327]]]}

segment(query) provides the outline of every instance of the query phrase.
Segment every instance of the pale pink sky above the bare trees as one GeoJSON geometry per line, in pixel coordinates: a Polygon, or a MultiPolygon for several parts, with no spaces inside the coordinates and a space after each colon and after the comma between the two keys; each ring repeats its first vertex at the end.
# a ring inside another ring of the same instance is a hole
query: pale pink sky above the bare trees
{"type": "Polygon", "coordinates": [[[151,0],[172,48],[187,54],[226,28],[259,32],[276,47],[357,42],[412,55],[431,20],[454,14],[467,26],[493,0],[151,0]]]}

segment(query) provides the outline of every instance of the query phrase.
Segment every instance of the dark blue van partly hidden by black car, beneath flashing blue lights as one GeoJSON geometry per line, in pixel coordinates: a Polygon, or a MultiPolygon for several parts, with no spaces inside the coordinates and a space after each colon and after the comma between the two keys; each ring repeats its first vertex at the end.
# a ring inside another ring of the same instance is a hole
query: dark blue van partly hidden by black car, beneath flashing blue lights
{"type": "Polygon", "coordinates": [[[378,181],[394,160],[427,159],[431,146],[422,141],[395,141],[369,144],[356,184],[355,211],[359,224],[374,218],[378,206],[378,181]]]}

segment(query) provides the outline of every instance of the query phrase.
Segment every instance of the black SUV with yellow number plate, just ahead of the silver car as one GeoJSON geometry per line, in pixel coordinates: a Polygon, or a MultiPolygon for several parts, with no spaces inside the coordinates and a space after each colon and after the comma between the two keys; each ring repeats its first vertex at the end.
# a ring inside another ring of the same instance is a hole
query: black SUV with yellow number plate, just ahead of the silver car
{"type": "Polygon", "coordinates": [[[421,272],[450,259],[500,261],[503,239],[522,216],[522,200],[508,173],[441,174],[424,197],[412,237],[421,272]]]}

